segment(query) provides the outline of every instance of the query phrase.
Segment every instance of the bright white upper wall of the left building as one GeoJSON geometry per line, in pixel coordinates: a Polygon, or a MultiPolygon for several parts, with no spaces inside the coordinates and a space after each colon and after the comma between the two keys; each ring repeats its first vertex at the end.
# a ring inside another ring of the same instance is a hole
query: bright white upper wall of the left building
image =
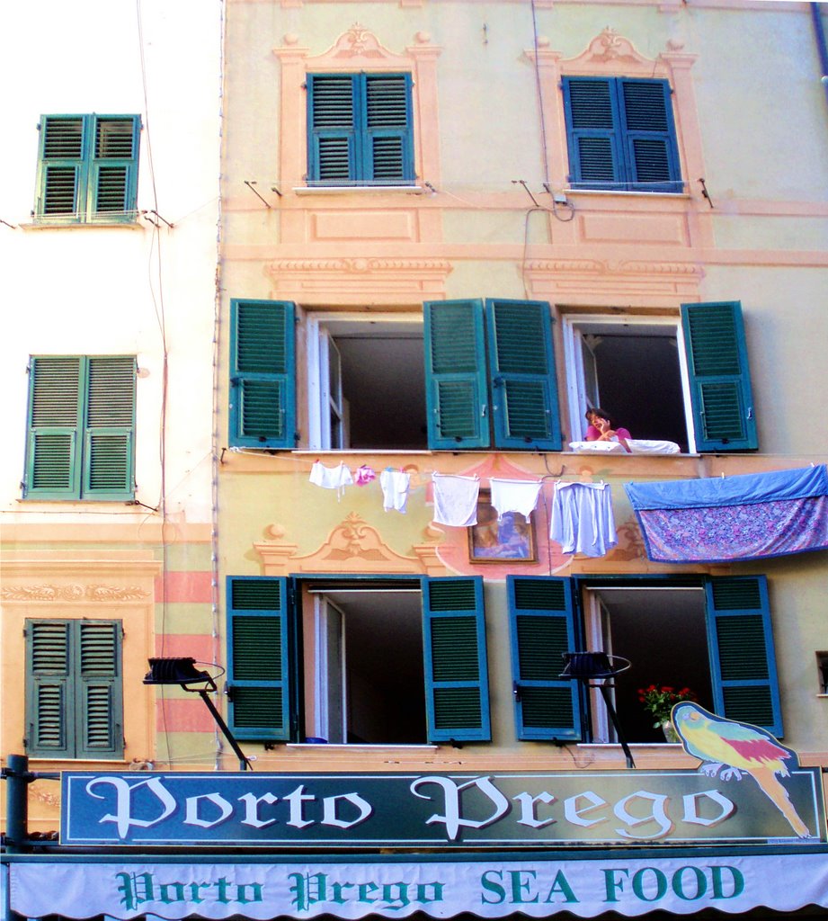
{"type": "MultiPolygon", "coordinates": [[[[219,0],[45,0],[6,11],[0,218],[16,225],[0,225],[6,521],[57,510],[72,520],[71,504],[19,501],[31,355],[137,356],[135,497],[157,506],[165,341],[168,510],[209,519],[221,23],[219,0]],[[140,113],[137,207],[173,228],[143,218],[31,227],[41,115],[90,112],[140,113]]],[[[87,521],[112,511],[77,510],[87,521]]]]}

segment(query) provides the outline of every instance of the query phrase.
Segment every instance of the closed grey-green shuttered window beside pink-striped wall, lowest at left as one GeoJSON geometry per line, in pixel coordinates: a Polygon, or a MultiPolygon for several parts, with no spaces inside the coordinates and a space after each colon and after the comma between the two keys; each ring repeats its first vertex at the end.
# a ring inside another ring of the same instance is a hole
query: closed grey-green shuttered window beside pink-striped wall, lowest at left
{"type": "Polygon", "coordinates": [[[26,622],[26,751],[40,758],[123,756],[122,624],[26,622]]]}

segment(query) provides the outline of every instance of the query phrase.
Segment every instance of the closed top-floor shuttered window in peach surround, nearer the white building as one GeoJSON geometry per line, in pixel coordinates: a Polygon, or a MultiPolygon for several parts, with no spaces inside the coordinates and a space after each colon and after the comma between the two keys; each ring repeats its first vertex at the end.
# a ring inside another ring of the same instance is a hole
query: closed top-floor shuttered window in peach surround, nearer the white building
{"type": "Polygon", "coordinates": [[[410,185],[409,74],[308,76],[309,185],[410,185]]]}

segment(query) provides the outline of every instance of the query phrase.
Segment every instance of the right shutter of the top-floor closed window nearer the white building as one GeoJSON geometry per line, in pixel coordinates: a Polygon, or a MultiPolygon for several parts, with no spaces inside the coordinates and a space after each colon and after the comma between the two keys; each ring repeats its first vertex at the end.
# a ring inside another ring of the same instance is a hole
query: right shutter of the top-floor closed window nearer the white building
{"type": "Polygon", "coordinates": [[[411,75],[367,74],[363,178],[376,185],[414,181],[411,75]]]}

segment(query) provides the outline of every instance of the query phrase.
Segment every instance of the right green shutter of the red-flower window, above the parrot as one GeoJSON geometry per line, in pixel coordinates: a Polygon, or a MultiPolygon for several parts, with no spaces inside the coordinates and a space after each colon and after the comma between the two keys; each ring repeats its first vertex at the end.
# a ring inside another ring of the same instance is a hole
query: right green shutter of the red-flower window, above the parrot
{"type": "Polygon", "coordinates": [[[765,577],[710,577],[705,591],[717,714],[761,726],[781,739],[782,708],[765,577]]]}

